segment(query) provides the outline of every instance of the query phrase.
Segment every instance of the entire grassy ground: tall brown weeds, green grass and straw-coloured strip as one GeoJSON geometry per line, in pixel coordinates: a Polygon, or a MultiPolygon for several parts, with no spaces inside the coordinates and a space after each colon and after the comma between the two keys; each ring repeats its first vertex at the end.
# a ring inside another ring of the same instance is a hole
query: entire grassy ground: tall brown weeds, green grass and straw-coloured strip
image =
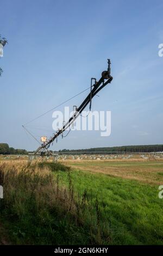
{"type": "Polygon", "coordinates": [[[163,161],[63,163],[0,162],[5,241],[163,245],[163,161]]]}

